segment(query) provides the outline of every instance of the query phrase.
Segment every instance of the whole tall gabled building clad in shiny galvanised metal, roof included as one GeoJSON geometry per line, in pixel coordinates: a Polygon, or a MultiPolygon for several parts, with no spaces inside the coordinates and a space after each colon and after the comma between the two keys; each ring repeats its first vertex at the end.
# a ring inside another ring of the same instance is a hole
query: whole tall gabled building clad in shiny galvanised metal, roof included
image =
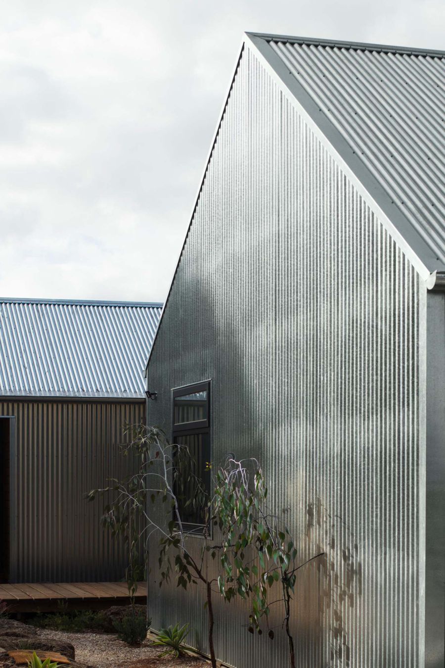
{"type": "MultiPolygon", "coordinates": [[[[258,457],[301,562],[324,552],[300,668],[444,666],[444,58],[246,35],[147,366],[149,422],[207,387],[202,447],[258,457]]],[[[205,593],[152,565],[153,625],[206,649],[205,593]]],[[[281,613],[270,642],[218,605],[221,659],[288,665],[281,613]]]]}

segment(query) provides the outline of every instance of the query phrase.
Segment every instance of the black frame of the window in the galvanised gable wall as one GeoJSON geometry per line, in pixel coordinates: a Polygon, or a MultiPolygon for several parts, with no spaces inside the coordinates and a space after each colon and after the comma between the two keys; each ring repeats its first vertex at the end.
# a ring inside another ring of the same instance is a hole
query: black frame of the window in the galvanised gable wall
{"type": "MultiPolygon", "coordinates": [[[[175,387],[171,390],[171,435],[172,442],[178,436],[194,436],[199,434],[207,435],[208,461],[211,461],[211,401],[210,401],[210,381],[199,381],[197,383],[190,383],[190,385],[183,385],[182,387],[175,387]],[[182,422],[175,424],[175,399],[177,397],[193,394],[196,392],[206,391],[207,414],[204,420],[194,420],[193,422],[182,422]]],[[[210,472],[205,472],[207,478],[207,490],[211,494],[210,472]]],[[[192,524],[191,522],[181,522],[183,529],[189,535],[203,536],[205,524],[192,524]]],[[[210,530],[209,527],[207,527],[210,530]]]]}

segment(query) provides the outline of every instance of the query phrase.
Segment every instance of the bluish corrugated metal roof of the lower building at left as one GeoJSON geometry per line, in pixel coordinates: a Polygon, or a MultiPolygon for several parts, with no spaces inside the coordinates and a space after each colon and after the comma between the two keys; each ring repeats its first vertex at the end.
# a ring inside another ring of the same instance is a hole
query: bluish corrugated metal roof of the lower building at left
{"type": "Polygon", "coordinates": [[[143,397],[161,307],[0,298],[0,395],[143,397]]]}

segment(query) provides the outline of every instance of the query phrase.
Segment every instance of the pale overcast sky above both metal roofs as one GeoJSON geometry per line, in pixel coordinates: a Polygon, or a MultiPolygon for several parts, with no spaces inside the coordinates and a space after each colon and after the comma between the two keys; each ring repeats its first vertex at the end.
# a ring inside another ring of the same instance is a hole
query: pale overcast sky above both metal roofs
{"type": "Polygon", "coordinates": [[[245,30],[445,48],[444,0],[0,4],[0,296],[163,301],[245,30]]]}

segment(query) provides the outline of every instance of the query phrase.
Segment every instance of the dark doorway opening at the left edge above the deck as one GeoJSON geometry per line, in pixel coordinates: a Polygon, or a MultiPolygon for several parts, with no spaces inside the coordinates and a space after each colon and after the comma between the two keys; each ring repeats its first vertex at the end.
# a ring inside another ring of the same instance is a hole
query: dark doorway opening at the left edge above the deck
{"type": "Polygon", "coordinates": [[[0,418],[0,582],[9,582],[11,419],[0,418]]]}

